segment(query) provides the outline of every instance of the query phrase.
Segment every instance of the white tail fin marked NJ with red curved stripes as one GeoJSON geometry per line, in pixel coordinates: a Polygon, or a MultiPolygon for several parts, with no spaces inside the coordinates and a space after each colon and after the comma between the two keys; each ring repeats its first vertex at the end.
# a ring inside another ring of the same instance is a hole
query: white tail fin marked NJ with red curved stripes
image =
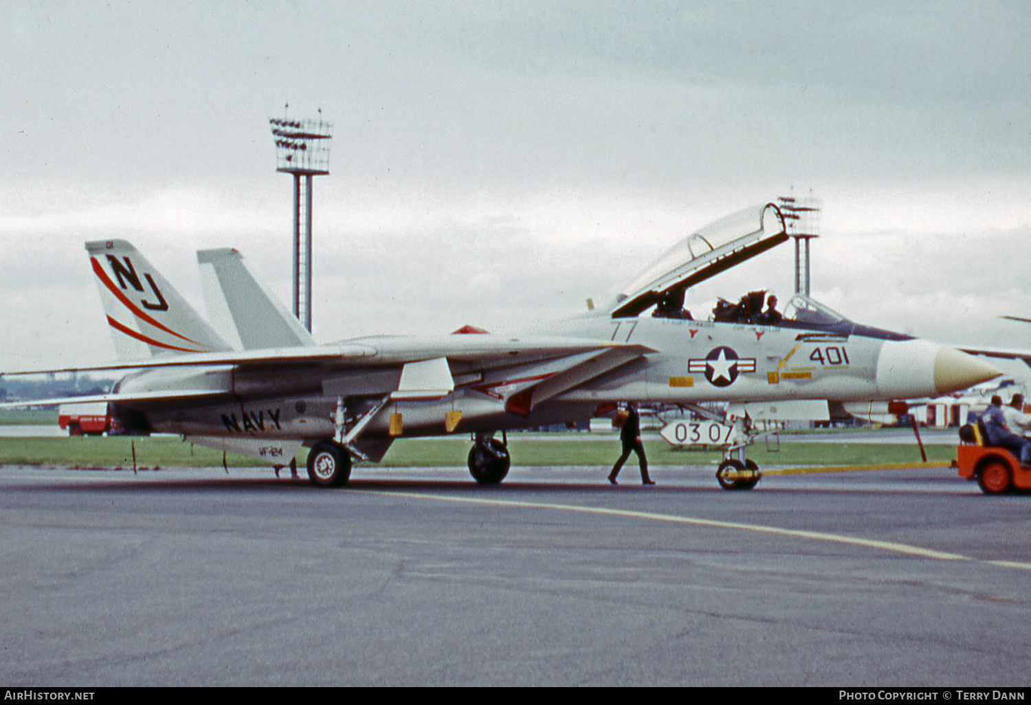
{"type": "Polygon", "coordinates": [[[119,360],[230,346],[126,240],[86,243],[119,360]]]}

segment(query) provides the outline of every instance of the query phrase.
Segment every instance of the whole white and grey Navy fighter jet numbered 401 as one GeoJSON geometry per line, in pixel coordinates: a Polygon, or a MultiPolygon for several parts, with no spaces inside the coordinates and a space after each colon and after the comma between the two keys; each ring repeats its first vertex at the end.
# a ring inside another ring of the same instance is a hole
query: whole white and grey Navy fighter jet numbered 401
{"type": "MultiPolygon", "coordinates": [[[[821,404],[826,413],[828,400],[940,395],[998,375],[977,358],[853,323],[800,295],[774,320],[732,306],[688,320],[678,303],[688,288],[788,237],[767,203],[683,239],[607,304],[523,334],[467,328],[325,345],[236,250],[198,253],[208,323],[129,242],[88,242],[120,359],[88,369],[128,373],[110,394],[74,401],[108,402],[130,431],[179,434],[277,466],[308,446],[308,475],[321,486],[343,484],[353,461],[379,461],[395,438],[471,433],[469,470],[492,483],[510,463],[497,432],[581,421],[620,402],[729,402],[740,430],[750,413],[778,406],[806,417],[821,404]]],[[[59,401],[70,400],[32,403],[59,401]]],[[[743,443],[735,450],[721,484],[751,488],[758,469],[743,443]]]]}

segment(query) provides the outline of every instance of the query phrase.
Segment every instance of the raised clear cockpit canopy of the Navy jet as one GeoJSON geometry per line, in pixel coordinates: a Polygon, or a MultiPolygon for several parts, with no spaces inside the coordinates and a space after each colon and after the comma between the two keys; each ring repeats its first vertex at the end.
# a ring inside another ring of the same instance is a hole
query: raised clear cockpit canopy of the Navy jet
{"type": "Polygon", "coordinates": [[[612,317],[637,315],[673,290],[685,291],[788,239],[772,203],[722,217],[677,242],[617,295],[612,317]]]}

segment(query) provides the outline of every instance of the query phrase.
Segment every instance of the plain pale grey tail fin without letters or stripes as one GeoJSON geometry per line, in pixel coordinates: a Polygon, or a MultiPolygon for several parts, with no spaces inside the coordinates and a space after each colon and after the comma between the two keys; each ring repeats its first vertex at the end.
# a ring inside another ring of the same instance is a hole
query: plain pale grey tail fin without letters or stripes
{"type": "Polygon", "coordinates": [[[230,247],[197,251],[207,315],[241,349],[314,345],[311,335],[230,247]]]}

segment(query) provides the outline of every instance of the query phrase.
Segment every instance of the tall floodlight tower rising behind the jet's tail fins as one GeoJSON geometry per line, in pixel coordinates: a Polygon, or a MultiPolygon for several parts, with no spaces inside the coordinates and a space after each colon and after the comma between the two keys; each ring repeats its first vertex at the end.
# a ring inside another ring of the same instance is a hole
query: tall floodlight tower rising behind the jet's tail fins
{"type": "Polygon", "coordinates": [[[269,118],[268,124],[275,141],[275,170],[294,175],[294,315],[310,332],[311,177],[329,174],[329,146],[330,140],[333,139],[333,124],[323,121],[321,108],[319,120],[269,118]]]}

